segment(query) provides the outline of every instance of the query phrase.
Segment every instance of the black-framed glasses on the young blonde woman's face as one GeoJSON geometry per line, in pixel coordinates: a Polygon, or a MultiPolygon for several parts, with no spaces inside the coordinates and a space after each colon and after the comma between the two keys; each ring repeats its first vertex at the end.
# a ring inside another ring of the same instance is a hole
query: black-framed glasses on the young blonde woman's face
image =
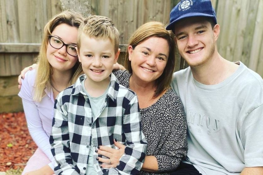
{"type": "Polygon", "coordinates": [[[60,49],[63,46],[66,46],[66,51],[69,55],[74,56],[74,57],[78,55],[76,51],[76,46],[71,45],[71,44],[65,44],[62,40],[60,40],[56,36],[49,35],[48,37],[49,37],[49,44],[53,48],[60,49]]]}

